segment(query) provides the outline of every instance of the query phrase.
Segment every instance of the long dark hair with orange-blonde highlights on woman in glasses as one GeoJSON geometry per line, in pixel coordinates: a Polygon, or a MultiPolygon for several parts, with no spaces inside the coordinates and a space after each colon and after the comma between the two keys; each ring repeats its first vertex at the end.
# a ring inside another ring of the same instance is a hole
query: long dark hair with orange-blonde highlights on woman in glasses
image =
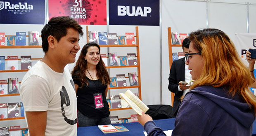
{"type": "Polygon", "coordinates": [[[228,94],[238,94],[256,113],[256,97],[248,88],[254,80],[228,35],[207,28],[192,32],[189,39],[204,58],[202,74],[190,89],[203,85],[227,87],[228,94]]]}

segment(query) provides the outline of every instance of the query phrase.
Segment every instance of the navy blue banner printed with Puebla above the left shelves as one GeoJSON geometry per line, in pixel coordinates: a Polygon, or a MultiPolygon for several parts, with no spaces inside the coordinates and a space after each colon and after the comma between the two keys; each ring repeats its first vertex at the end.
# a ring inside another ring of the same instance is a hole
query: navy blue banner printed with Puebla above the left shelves
{"type": "Polygon", "coordinates": [[[45,0],[1,0],[0,23],[44,24],[45,0]]]}

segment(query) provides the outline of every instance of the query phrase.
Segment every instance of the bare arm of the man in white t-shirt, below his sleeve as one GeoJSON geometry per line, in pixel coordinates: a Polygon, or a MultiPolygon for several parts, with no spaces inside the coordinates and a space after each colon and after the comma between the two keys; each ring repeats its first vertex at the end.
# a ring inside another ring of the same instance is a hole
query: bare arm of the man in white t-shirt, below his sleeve
{"type": "Polygon", "coordinates": [[[30,136],[45,136],[47,111],[26,112],[30,136]]]}

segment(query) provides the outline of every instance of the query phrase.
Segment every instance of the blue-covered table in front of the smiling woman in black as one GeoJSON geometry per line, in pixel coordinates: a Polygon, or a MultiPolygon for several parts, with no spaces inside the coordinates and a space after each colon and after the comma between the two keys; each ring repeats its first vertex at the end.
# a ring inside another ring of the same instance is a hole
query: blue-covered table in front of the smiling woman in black
{"type": "MultiPolygon", "coordinates": [[[[154,122],[156,122],[156,125],[161,129],[170,130],[174,128],[175,118],[154,120],[154,122]]],[[[123,125],[127,129],[129,129],[129,131],[104,134],[98,128],[98,126],[78,127],[77,136],[144,136],[143,131],[145,130],[143,129],[142,125],[138,122],[112,124],[112,125],[114,126],[123,125]]],[[[254,124],[253,124],[252,136],[256,136],[256,120],[254,121],[254,124]]]]}

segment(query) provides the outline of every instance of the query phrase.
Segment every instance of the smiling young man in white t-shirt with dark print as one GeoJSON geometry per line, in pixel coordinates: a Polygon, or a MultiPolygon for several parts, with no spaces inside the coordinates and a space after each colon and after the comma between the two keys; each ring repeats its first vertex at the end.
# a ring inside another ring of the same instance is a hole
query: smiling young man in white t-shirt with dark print
{"type": "Polygon", "coordinates": [[[24,76],[21,101],[30,136],[76,136],[76,92],[68,63],[74,63],[82,27],[69,16],[43,28],[45,55],[24,76]]]}

